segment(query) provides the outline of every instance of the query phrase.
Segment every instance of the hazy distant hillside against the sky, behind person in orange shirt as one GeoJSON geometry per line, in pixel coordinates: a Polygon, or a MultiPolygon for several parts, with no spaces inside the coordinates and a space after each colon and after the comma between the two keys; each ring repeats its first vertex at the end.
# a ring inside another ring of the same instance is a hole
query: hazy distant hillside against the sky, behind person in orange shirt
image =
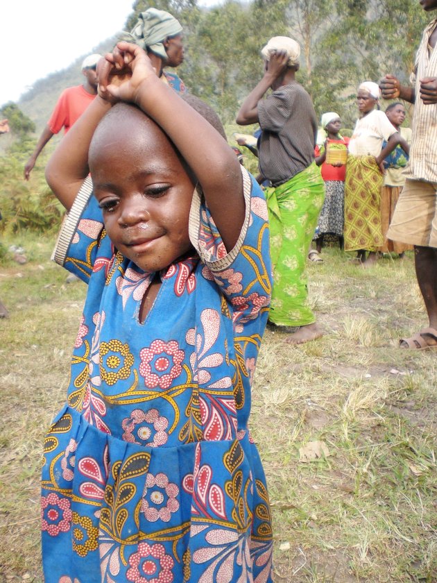
{"type": "MultiPolygon", "coordinates": [[[[117,37],[110,37],[97,47],[94,47],[91,53],[104,53],[110,51],[114,44],[117,42],[117,37]]],[[[83,83],[83,75],[80,69],[83,59],[87,56],[81,55],[69,65],[69,67],[62,69],[61,71],[55,71],[43,79],[39,79],[33,85],[33,87],[24,93],[17,105],[31,120],[35,123],[36,134],[40,135],[42,129],[46,125],[53,108],[55,107],[58,97],[67,87],[73,85],[80,85],[83,83]]]]}

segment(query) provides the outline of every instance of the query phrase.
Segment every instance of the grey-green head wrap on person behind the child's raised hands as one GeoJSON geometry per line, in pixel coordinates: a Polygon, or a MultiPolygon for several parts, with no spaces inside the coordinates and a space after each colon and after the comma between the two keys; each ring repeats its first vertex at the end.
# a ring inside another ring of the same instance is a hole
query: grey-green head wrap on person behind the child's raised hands
{"type": "Polygon", "coordinates": [[[133,42],[146,51],[155,53],[162,60],[166,59],[164,40],[182,33],[180,22],[170,12],[148,8],[141,12],[137,24],[130,33],[122,33],[121,40],[133,42]]]}

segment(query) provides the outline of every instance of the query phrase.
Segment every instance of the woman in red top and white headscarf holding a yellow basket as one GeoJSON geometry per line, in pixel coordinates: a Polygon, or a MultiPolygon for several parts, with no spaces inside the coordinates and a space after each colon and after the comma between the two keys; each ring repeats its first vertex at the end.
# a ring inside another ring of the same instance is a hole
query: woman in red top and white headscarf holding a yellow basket
{"type": "Polygon", "coordinates": [[[316,145],[314,155],[316,156],[316,164],[320,166],[322,178],[325,180],[325,201],[318,217],[318,226],[314,236],[316,248],[311,249],[308,253],[309,260],[314,262],[323,261],[319,253],[322,251],[325,235],[339,237],[340,248],[343,248],[345,159],[349,144],[349,138],[340,135],[341,119],[338,113],[324,113],[321,124],[327,137],[323,146],[316,145]],[[328,157],[327,160],[328,149],[331,158],[328,157]],[[336,154],[334,160],[332,160],[333,154],[336,154]]]}

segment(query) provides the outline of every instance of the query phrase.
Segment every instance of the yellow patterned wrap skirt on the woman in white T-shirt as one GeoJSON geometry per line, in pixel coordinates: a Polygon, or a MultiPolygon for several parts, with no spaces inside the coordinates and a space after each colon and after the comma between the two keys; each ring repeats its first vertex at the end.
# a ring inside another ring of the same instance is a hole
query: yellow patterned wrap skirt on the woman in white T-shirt
{"type": "Polygon", "coordinates": [[[345,251],[378,251],[384,177],[374,156],[348,155],[345,181],[345,251]]]}

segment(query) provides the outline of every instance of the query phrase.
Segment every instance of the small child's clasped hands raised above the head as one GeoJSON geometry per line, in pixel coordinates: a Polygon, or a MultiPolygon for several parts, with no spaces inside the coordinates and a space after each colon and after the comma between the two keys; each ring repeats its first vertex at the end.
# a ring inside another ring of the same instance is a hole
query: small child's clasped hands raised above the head
{"type": "Polygon", "coordinates": [[[99,94],[112,103],[137,100],[139,86],[148,78],[156,78],[156,71],[146,52],[136,44],[121,41],[105,61],[99,62],[99,94]]]}

